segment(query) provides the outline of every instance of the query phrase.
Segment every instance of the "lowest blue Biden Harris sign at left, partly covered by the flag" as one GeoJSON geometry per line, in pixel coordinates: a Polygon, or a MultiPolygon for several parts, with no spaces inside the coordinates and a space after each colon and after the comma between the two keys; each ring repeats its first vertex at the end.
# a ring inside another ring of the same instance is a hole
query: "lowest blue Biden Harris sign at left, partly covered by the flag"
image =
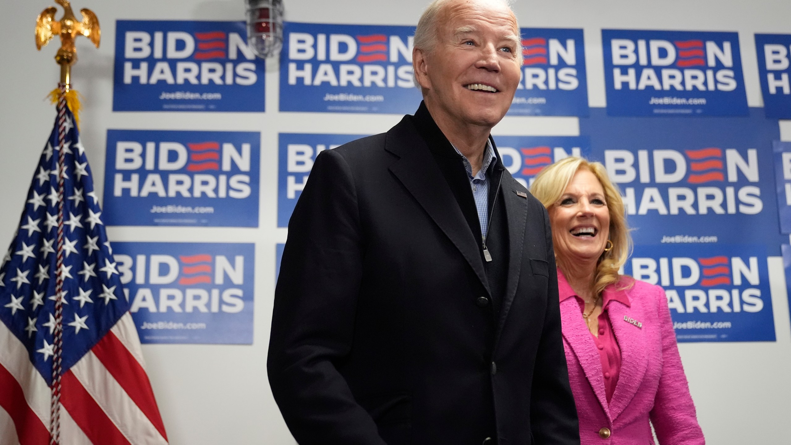
{"type": "Polygon", "coordinates": [[[142,343],[252,344],[255,245],[114,242],[142,343]]]}

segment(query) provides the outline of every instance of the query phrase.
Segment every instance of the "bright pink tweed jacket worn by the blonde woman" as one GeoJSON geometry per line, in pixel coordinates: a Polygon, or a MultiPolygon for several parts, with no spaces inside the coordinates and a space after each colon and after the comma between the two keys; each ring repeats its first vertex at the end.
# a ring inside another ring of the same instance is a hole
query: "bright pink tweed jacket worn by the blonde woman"
{"type": "MultiPolygon", "coordinates": [[[[623,280],[631,280],[624,278],[623,280]]],[[[622,283],[623,283],[622,280],[622,283]]],[[[613,301],[608,314],[621,348],[621,370],[610,403],[604,396],[599,354],[576,299],[561,302],[563,347],[580,418],[582,445],[706,443],[698,426],[673,333],[668,300],[659,286],[634,281],[629,306],[613,301]],[[602,428],[607,428],[610,435],[602,428]]]]}

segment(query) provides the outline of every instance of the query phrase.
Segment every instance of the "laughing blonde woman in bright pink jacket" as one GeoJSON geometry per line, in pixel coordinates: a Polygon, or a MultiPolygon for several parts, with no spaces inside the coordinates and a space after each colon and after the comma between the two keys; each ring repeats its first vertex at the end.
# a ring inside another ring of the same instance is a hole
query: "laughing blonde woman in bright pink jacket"
{"type": "Polygon", "coordinates": [[[531,192],[549,211],[569,380],[585,445],[705,443],[659,286],[619,275],[630,253],[604,165],[566,158],[531,192]]]}

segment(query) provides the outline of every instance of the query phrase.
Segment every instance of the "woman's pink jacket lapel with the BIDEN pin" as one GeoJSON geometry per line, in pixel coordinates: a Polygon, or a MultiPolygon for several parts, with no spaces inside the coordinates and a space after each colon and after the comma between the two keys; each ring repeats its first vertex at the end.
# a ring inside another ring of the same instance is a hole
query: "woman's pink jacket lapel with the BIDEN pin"
{"type": "Polygon", "coordinates": [[[623,321],[624,316],[642,320],[634,306],[625,306],[620,302],[611,302],[607,307],[610,324],[621,349],[621,371],[615,393],[610,401],[610,413],[613,419],[617,418],[637,393],[640,382],[645,375],[648,363],[642,354],[643,329],[623,321]]]}

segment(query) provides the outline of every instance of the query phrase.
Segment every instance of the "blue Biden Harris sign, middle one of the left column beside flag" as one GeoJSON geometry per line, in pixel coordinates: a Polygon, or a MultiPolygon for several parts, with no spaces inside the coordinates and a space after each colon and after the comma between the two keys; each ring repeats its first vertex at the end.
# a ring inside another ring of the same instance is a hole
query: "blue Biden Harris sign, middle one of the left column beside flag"
{"type": "Polygon", "coordinates": [[[104,221],[258,226],[260,133],[108,130],[104,221]]]}

